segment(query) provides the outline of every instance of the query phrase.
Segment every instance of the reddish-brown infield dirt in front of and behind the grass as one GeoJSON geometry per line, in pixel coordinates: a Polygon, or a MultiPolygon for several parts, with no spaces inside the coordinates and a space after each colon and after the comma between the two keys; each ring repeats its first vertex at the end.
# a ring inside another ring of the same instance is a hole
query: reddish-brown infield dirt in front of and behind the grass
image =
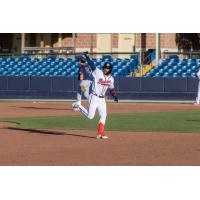
{"type": "MultiPolygon", "coordinates": [[[[191,104],[108,103],[109,113],[199,110],[191,104]]],[[[79,115],[70,102],[0,103],[0,118],[79,115]]],[[[0,165],[200,165],[200,134],[15,130],[0,122],[0,165]]]]}

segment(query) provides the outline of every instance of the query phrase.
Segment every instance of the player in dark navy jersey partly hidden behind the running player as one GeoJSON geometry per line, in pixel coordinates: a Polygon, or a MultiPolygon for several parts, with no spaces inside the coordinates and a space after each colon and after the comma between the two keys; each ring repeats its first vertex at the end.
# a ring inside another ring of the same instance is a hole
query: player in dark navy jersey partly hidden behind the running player
{"type": "Polygon", "coordinates": [[[77,61],[79,63],[79,70],[78,70],[78,85],[77,85],[77,101],[72,104],[81,105],[82,94],[84,94],[85,98],[89,98],[89,90],[91,85],[90,75],[91,70],[90,67],[86,64],[85,57],[78,56],[77,61]]]}

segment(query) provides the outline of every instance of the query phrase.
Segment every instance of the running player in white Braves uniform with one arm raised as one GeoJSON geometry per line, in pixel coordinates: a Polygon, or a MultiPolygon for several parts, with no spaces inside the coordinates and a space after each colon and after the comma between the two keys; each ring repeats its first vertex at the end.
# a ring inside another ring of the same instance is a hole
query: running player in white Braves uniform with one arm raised
{"type": "Polygon", "coordinates": [[[103,71],[101,71],[94,65],[93,61],[90,60],[87,53],[85,53],[85,57],[92,70],[92,92],[89,97],[89,108],[87,110],[82,105],[74,104],[73,109],[78,110],[88,119],[94,118],[97,109],[100,116],[97,139],[107,139],[108,137],[104,135],[104,126],[107,116],[106,101],[104,97],[107,89],[110,90],[110,94],[114,98],[114,101],[118,102],[116,91],[114,89],[114,78],[111,76],[112,65],[111,63],[105,63],[103,71]]]}

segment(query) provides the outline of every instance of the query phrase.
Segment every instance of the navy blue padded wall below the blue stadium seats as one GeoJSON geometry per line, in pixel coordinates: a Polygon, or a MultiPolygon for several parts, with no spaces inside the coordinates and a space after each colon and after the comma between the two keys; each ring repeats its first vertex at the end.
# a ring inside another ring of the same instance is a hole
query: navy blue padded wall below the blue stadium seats
{"type": "MultiPolygon", "coordinates": [[[[75,99],[77,78],[0,77],[1,99],[75,99]]],[[[115,78],[120,99],[194,100],[197,78],[115,78]]]]}

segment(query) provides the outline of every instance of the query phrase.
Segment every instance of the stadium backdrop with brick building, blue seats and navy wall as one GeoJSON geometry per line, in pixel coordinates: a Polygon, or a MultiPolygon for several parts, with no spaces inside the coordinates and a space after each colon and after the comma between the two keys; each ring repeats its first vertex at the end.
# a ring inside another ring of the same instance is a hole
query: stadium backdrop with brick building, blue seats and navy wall
{"type": "Polygon", "coordinates": [[[113,65],[125,99],[192,99],[200,67],[199,34],[1,33],[1,98],[73,98],[77,54],[113,65]]]}

